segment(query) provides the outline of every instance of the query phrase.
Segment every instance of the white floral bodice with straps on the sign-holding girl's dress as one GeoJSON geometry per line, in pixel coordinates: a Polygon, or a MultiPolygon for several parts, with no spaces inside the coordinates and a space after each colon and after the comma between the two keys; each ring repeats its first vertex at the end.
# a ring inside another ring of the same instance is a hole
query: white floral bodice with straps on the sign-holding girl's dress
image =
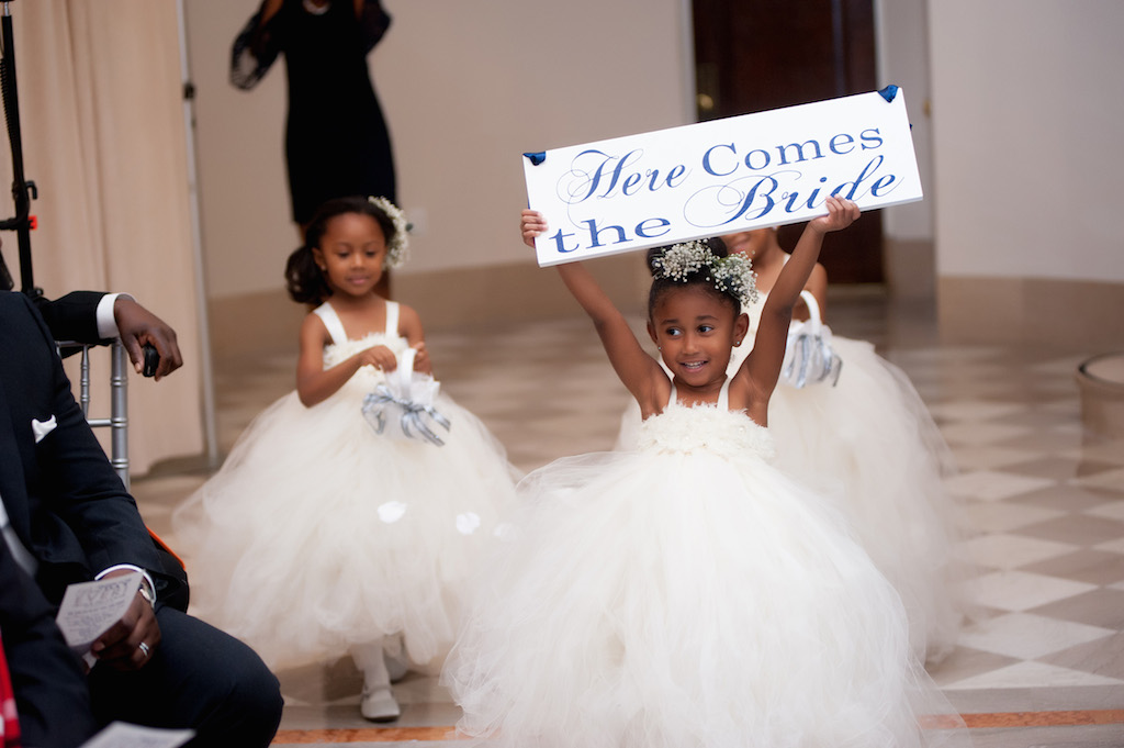
{"type": "Polygon", "coordinates": [[[729,409],[728,386],[727,379],[715,405],[681,405],[672,388],[671,403],[663,413],[641,424],[637,448],[643,452],[706,452],[725,459],[752,454],[771,462],[777,454],[772,434],[744,411],[729,409]]]}

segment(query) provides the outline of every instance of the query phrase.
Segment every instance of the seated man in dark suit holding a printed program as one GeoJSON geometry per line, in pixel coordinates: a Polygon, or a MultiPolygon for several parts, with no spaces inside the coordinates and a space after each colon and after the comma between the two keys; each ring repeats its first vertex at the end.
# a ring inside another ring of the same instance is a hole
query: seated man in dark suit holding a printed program
{"type": "MultiPolygon", "coordinates": [[[[196,746],[269,745],[281,717],[277,678],[245,645],[164,604],[183,582],[164,571],[71,395],[52,333],[21,294],[0,292],[0,525],[9,551],[53,606],[69,584],[145,574],[128,613],[94,642],[93,720],[190,727],[196,746]]],[[[35,735],[25,742],[66,745],[35,735]]]]}

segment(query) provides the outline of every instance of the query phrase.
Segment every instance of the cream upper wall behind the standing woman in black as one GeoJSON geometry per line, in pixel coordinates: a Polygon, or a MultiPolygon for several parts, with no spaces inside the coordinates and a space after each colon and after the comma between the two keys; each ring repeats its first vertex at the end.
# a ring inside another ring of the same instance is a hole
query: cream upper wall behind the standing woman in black
{"type": "MultiPolygon", "coordinates": [[[[191,0],[203,245],[212,298],[282,287],[298,237],[283,163],[284,70],[227,83],[255,0],[191,0]]],[[[384,0],[371,54],[416,224],[401,272],[532,262],[518,240],[520,153],[682,125],[689,0],[384,0]]]]}

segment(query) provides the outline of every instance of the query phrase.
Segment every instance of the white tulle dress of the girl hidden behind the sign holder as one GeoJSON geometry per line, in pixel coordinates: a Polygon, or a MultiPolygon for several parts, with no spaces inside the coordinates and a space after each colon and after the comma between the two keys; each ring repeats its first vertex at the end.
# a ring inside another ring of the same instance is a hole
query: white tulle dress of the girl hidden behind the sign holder
{"type": "MultiPolygon", "coordinates": [[[[734,372],[752,350],[768,294],[759,292],[734,372]]],[[[908,377],[865,341],[834,335],[843,361],[837,382],[796,388],[778,382],[769,400],[777,466],[830,496],[863,548],[901,595],[915,654],[939,660],[955,645],[966,614],[958,552],[966,522],[943,478],[951,453],[908,377]]],[[[640,408],[622,417],[617,449],[635,445],[640,408]]]]}

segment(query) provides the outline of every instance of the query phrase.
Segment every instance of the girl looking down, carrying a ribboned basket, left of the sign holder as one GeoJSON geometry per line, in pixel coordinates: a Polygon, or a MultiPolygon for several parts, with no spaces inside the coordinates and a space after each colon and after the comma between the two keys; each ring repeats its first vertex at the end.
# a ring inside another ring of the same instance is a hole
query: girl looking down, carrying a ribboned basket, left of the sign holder
{"type": "Polygon", "coordinates": [[[399,715],[384,649],[400,639],[419,665],[447,651],[515,497],[499,442],[436,393],[417,313],[374,290],[405,260],[406,228],[382,198],[320,208],[287,269],[290,295],[319,305],[297,390],[173,516],[198,614],[273,669],[351,652],[375,721],[399,715]]]}

